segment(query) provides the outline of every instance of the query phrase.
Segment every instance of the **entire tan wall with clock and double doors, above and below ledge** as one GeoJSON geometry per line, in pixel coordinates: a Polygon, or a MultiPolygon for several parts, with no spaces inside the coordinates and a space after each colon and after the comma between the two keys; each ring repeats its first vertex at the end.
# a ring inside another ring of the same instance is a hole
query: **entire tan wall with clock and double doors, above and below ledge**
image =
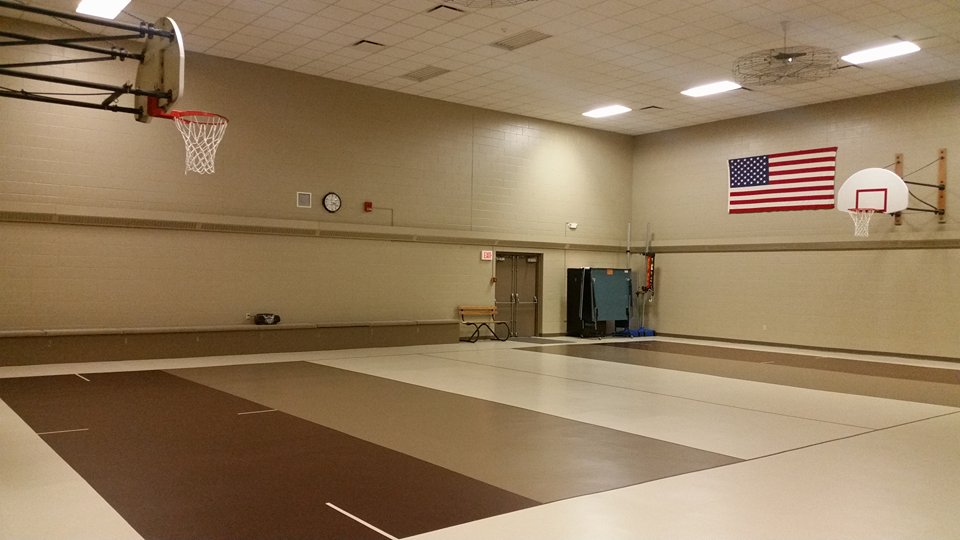
{"type": "MultiPolygon", "coordinates": [[[[9,61],[50,54],[0,49],[9,61]]],[[[453,318],[458,304],[493,301],[481,249],[534,243],[556,246],[537,249],[542,330],[562,333],[565,259],[608,258],[564,246],[624,245],[630,137],[202,55],[186,66],[176,108],[231,120],[216,174],[184,174],[167,121],[2,99],[0,211],[306,224],[343,238],[0,223],[0,330],[233,324],[257,311],[289,322],[453,318]],[[298,191],[314,194],[313,208],[296,208],[298,191]],[[337,214],[320,207],[328,191],[343,197],[337,214]],[[398,233],[444,240],[389,240],[398,233]]],[[[53,74],[119,84],[135,67],[53,74]]]]}

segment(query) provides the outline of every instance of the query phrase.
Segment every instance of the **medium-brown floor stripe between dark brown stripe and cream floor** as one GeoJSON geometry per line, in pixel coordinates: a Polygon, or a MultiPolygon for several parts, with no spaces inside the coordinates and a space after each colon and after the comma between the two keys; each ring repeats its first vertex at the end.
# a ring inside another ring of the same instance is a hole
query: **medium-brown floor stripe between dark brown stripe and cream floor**
{"type": "Polygon", "coordinates": [[[502,403],[306,362],[171,373],[540,502],[739,461],[502,403]]]}

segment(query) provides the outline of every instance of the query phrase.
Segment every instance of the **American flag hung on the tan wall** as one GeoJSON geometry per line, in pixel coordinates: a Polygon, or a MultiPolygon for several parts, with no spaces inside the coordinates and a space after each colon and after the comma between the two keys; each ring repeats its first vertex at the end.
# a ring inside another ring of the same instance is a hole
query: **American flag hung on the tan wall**
{"type": "Polygon", "coordinates": [[[837,147],[729,160],[730,214],[833,208],[837,147]]]}

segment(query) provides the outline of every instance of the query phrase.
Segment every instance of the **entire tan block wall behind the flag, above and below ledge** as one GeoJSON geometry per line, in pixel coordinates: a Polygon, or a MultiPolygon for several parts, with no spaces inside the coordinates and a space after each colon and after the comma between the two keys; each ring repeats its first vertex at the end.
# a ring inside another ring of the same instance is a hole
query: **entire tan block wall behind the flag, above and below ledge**
{"type": "MultiPolygon", "coordinates": [[[[892,163],[896,153],[909,174],[947,148],[947,223],[910,214],[895,227],[889,216],[875,216],[870,237],[850,247],[956,241],[958,126],[954,82],[637,138],[633,221],[650,222],[654,245],[673,251],[657,257],[652,325],[676,334],[960,357],[960,250],[820,249],[854,240],[846,214],[726,213],[730,158],[836,145],[839,186],[857,170],[892,163]],[[811,243],[822,244],[804,248],[811,243]],[[766,247],[697,252],[743,244],[766,247]],[[797,248],[812,251],[789,251],[797,248]]],[[[908,180],[935,182],[936,173],[934,165],[908,180]]],[[[911,190],[935,201],[933,189],[911,190]]]]}

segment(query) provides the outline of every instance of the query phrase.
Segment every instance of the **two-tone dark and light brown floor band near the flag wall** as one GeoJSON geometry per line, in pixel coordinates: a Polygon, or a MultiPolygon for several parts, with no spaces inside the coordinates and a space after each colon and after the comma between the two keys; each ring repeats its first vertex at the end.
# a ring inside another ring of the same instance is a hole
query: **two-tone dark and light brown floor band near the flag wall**
{"type": "Polygon", "coordinates": [[[960,407],[960,371],[685,343],[635,341],[520,350],[960,407]]]}

